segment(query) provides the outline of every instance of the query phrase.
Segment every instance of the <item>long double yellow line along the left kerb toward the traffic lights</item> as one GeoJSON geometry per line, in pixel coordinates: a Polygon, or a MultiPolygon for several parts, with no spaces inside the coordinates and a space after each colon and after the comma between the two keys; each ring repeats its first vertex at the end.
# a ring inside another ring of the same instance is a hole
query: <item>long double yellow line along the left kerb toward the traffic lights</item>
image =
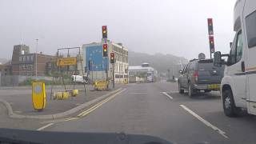
{"type": "MultiPolygon", "coordinates": [[[[126,89],[124,89],[124,90],[126,90],[126,89]]],[[[124,90],[119,91],[118,93],[110,96],[109,98],[104,99],[102,102],[98,102],[96,105],[90,107],[90,109],[78,114],[78,118],[82,118],[82,117],[86,116],[87,114],[90,114],[91,112],[96,110],[98,107],[102,106],[104,103],[110,101],[112,98],[116,97],[118,94],[121,94],[124,90]]]]}

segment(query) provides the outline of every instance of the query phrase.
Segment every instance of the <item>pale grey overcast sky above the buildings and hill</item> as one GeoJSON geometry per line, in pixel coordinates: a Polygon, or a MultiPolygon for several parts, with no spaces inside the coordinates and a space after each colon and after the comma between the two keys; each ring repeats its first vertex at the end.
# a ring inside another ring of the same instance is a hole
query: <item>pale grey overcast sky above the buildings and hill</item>
{"type": "Polygon", "coordinates": [[[229,51],[235,0],[1,0],[0,58],[26,44],[54,54],[58,48],[108,37],[129,50],[149,54],[209,57],[206,18],[214,18],[216,50],[229,51]]]}

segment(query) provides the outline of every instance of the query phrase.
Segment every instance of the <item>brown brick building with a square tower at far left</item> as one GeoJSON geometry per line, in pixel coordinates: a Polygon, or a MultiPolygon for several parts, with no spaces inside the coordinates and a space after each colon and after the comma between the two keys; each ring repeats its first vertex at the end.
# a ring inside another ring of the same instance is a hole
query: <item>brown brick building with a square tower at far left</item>
{"type": "Polygon", "coordinates": [[[14,46],[11,60],[11,74],[44,76],[46,74],[46,63],[54,56],[47,54],[30,53],[30,47],[26,45],[14,46]]]}

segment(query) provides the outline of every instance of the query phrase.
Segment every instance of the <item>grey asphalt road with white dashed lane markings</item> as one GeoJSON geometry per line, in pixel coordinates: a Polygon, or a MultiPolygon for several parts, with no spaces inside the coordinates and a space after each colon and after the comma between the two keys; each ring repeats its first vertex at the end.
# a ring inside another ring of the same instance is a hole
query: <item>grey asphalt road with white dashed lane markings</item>
{"type": "Polygon", "coordinates": [[[177,90],[176,83],[129,84],[82,118],[40,121],[29,129],[148,134],[178,143],[255,143],[255,116],[227,118],[218,92],[189,98],[177,90]]]}

